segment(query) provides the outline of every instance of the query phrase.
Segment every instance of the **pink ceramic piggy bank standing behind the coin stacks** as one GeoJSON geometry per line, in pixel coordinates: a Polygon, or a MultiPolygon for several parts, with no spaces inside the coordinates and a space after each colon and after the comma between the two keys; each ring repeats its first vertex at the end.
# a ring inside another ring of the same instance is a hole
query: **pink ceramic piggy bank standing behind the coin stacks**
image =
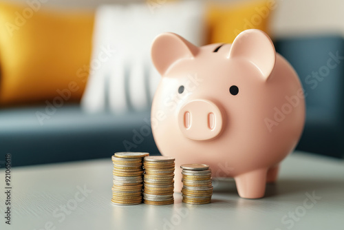
{"type": "Polygon", "coordinates": [[[151,125],[162,155],[180,165],[210,165],[213,178],[232,177],[241,198],[261,198],[279,163],[297,145],[305,123],[303,88],[292,66],[261,30],[233,44],[200,48],[160,34],[151,49],[162,75],[151,125]]]}

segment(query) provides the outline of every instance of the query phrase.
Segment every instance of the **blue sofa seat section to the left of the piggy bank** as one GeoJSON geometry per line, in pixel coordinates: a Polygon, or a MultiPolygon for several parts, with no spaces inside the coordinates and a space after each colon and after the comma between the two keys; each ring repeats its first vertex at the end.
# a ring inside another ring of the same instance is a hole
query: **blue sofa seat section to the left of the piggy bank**
{"type": "Polygon", "coordinates": [[[110,159],[115,151],[159,154],[149,112],[92,115],[79,105],[52,111],[51,107],[22,107],[0,112],[0,149],[12,154],[12,165],[110,159]],[[49,119],[40,122],[38,113],[49,119]]]}

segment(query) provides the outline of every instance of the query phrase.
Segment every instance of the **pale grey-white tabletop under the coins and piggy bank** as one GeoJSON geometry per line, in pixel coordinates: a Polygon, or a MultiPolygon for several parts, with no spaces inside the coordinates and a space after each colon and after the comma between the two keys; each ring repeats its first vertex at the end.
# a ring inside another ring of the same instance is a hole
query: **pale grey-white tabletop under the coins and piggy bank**
{"type": "MultiPolygon", "coordinates": [[[[265,198],[239,198],[233,180],[217,180],[208,205],[186,205],[180,193],[174,205],[113,205],[112,167],[109,157],[12,168],[12,224],[1,214],[0,229],[344,229],[343,160],[294,153],[265,198]]],[[[1,213],[4,203],[1,193],[1,213]]]]}

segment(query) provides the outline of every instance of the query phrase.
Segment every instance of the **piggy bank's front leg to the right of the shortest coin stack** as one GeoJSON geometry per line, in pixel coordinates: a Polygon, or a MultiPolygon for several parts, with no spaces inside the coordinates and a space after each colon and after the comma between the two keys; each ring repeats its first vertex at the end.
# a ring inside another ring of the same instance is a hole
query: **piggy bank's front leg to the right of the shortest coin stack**
{"type": "Polygon", "coordinates": [[[234,179],[239,196],[247,199],[262,198],[265,194],[267,171],[268,169],[257,169],[236,176],[234,179]]]}

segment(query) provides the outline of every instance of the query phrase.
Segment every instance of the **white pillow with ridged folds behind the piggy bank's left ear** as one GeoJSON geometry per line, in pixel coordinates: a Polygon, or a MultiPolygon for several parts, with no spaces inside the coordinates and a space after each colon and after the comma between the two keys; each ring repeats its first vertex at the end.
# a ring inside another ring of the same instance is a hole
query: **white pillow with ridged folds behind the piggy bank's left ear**
{"type": "Polygon", "coordinates": [[[203,3],[149,2],[97,9],[91,70],[81,101],[87,112],[150,109],[160,81],[150,56],[158,34],[175,32],[196,45],[203,44],[203,3]]]}

